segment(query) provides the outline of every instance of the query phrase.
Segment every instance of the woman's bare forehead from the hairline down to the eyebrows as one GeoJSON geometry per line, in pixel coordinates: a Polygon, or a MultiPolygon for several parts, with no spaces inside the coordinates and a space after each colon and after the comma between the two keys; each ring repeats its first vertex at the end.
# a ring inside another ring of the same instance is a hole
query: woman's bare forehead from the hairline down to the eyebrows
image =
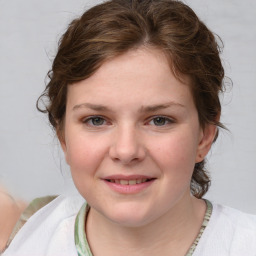
{"type": "Polygon", "coordinates": [[[159,104],[160,101],[191,103],[189,79],[177,79],[166,55],[157,49],[130,50],[106,61],[89,78],[68,88],[67,105],[84,101],[159,104]]]}

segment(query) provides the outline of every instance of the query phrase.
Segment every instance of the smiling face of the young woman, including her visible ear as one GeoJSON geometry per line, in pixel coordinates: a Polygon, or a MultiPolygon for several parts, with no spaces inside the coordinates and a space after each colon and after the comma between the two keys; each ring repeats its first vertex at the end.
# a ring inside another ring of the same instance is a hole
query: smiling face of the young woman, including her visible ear
{"type": "Polygon", "coordinates": [[[140,48],[69,86],[61,144],[92,213],[140,226],[191,197],[214,132],[200,128],[184,81],[161,51],[140,48]]]}

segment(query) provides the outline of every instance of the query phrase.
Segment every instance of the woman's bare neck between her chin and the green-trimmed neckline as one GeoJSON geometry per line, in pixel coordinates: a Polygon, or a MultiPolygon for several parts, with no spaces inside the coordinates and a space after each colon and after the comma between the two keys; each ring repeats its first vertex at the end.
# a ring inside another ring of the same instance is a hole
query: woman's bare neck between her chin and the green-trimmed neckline
{"type": "Polygon", "coordinates": [[[188,196],[157,220],[126,227],[91,209],[86,224],[88,242],[95,256],[185,255],[199,233],[205,210],[203,200],[188,196]]]}

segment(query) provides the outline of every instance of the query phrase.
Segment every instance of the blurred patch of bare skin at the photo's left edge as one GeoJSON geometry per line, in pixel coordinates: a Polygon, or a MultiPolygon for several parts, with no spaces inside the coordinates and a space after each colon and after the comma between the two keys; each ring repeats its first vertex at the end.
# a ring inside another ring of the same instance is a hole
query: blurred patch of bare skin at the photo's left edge
{"type": "Polygon", "coordinates": [[[4,250],[11,232],[27,204],[14,200],[0,188],[0,251],[4,250]]]}

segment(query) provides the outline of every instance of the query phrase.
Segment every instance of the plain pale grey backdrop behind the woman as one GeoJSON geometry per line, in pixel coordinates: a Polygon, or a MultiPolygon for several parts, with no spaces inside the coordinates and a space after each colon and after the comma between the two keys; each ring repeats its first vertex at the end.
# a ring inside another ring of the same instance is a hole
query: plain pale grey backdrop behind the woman
{"type": "MultiPolygon", "coordinates": [[[[0,0],[0,183],[26,200],[74,189],[36,100],[68,23],[100,1],[0,0]]],[[[221,96],[221,131],[208,159],[206,198],[256,214],[256,1],[187,0],[224,42],[233,88],[221,96]]]]}

